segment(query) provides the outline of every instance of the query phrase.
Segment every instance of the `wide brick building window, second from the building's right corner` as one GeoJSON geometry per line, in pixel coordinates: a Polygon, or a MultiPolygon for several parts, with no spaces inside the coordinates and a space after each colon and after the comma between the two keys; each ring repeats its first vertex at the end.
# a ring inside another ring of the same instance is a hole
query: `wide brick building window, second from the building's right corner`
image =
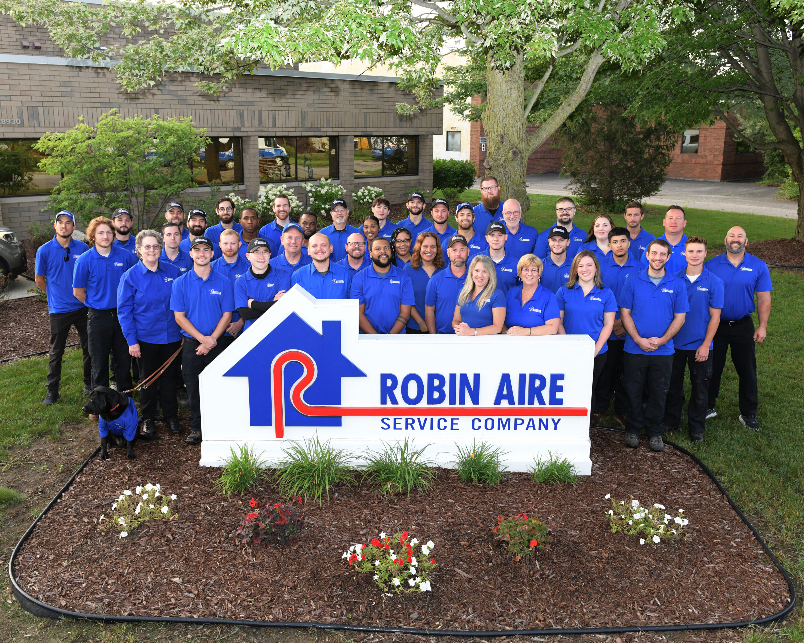
{"type": "Polygon", "coordinates": [[[338,137],[260,137],[260,182],[338,178],[338,137]]]}

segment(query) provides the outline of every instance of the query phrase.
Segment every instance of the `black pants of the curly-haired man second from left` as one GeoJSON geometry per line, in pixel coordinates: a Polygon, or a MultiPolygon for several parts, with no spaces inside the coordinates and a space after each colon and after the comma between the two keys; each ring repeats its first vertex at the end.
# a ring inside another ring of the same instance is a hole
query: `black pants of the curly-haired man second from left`
{"type": "Polygon", "coordinates": [[[89,309],[87,338],[92,357],[92,388],[109,386],[109,354],[114,355],[114,381],[118,391],[128,391],[131,383],[129,342],[117,321],[117,309],[89,309]]]}

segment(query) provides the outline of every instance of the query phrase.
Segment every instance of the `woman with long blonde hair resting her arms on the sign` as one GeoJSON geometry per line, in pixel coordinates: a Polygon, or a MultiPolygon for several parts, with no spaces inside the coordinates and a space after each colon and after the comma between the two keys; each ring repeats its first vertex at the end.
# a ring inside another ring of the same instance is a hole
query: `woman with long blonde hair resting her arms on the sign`
{"type": "Polygon", "coordinates": [[[505,322],[505,295],[497,289],[497,271],[487,255],[475,255],[458,293],[453,316],[456,335],[496,335],[505,322]]]}

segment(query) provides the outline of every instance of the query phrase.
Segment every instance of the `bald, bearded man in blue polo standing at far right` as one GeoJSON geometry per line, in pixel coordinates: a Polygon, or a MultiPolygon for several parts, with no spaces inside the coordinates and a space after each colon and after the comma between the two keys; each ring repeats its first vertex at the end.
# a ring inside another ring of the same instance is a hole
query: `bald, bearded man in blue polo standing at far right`
{"type": "Polygon", "coordinates": [[[709,383],[707,417],[716,416],[715,400],[720,393],[720,377],[726,366],[726,352],[732,348],[732,364],[740,378],[740,422],[759,431],[757,406],[757,355],[755,345],[765,342],[770,317],[770,272],[764,261],[745,252],[748,236],[740,226],[726,234],[726,252],[706,262],[709,272],[720,277],[724,284],[723,312],[715,334],[712,361],[712,382],[709,383]],[[754,312],[754,294],[759,327],[755,330],[751,315],[754,312]]]}

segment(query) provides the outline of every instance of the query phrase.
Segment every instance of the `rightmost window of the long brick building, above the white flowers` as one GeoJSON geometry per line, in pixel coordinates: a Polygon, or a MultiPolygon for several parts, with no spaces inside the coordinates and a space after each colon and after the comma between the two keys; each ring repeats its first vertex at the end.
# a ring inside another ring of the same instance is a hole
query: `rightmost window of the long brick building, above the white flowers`
{"type": "Polygon", "coordinates": [[[355,137],[355,178],[419,174],[419,137],[355,137]]]}

